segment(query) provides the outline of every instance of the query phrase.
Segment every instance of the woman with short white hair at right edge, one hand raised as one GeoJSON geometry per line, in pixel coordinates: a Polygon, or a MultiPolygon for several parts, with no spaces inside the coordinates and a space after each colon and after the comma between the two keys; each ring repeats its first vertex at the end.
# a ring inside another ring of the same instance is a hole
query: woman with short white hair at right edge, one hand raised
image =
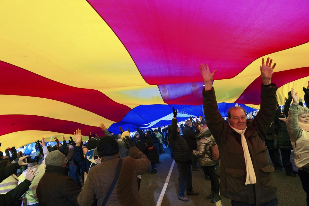
{"type": "Polygon", "coordinates": [[[309,108],[297,106],[297,92],[292,88],[293,103],[289,110],[286,126],[295,153],[295,164],[298,168],[298,176],[307,193],[307,205],[309,205],[309,108]]]}

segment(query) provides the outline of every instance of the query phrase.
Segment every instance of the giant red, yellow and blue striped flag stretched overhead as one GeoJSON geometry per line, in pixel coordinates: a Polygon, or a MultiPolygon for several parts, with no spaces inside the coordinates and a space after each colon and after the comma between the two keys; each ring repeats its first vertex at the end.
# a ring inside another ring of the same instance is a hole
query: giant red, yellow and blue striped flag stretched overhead
{"type": "Polygon", "coordinates": [[[283,104],[309,80],[309,2],[0,2],[0,141],[16,147],[81,128],[85,139],[203,114],[200,63],[218,69],[222,116],[260,104],[260,62],[277,62],[283,104]]]}

